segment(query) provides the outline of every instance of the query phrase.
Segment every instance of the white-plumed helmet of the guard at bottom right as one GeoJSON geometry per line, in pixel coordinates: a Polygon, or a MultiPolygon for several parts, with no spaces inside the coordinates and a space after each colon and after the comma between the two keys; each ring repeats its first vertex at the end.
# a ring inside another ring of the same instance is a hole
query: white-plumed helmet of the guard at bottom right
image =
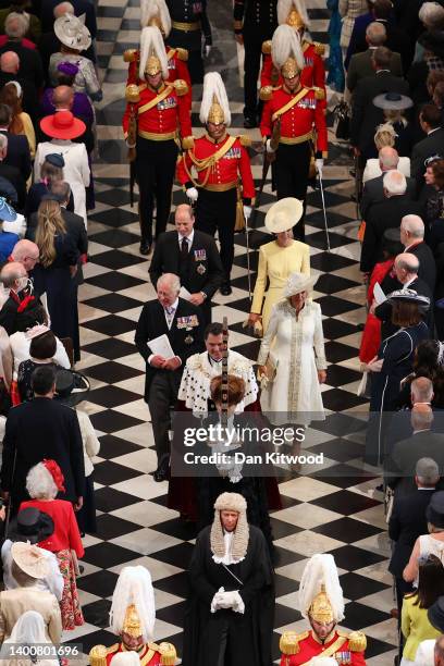
{"type": "Polygon", "coordinates": [[[299,610],[318,622],[344,619],[344,595],[333,555],[317,554],[308,560],[300,579],[299,610]]]}

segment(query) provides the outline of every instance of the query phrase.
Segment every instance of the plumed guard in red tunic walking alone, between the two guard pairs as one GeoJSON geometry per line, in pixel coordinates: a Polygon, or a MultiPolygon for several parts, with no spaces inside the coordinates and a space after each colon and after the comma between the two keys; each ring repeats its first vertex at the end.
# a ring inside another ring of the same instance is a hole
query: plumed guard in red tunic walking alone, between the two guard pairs
{"type": "Polygon", "coordinates": [[[218,72],[203,81],[200,122],[207,134],[194,140],[177,166],[177,177],[187,197],[196,201],[196,229],[218,231],[225,271],[221,293],[231,294],[230,273],[234,258],[234,231],[251,213],[255,184],[246,150],[248,137],[231,136],[231,113],[225,86],[218,72]],[[243,206],[244,205],[244,206],[243,206]],[[236,225],[236,215],[238,215],[236,225]]]}

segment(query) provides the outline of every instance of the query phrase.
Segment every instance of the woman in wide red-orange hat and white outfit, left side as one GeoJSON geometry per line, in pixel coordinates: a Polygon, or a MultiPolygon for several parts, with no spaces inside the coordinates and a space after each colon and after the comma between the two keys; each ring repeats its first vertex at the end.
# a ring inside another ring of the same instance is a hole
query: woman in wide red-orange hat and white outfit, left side
{"type": "Polygon", "coordinates": [[[70,183],[74,197],[74,212],[86,218],[86,192],[90,182],[90,169],[88,153],[85,144],[74,143],[85,133],[85,123],[75,118],[71,111],[57,111],[52,115],[46,115],[40,121],[41,131],[51,137],[50,141],[38,144],[36,159],[34,162],[34,182],[40,181],[40,169],[48,153],[59,153],[63,157],[64,180],[70,183]]]}

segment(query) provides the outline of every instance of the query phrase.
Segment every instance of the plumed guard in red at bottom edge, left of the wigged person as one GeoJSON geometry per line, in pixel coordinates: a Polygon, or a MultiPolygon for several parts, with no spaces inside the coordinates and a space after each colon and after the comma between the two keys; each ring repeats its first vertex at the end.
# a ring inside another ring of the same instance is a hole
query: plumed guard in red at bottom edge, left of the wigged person
{"type": "Polygon", "coordinates": [[[116,654],[128,651],[137,653],[141,666],[174,666],[174,645],[151,642],[155,620],[155,592],[148,569],[124,567],[110,610],[110,630],[121,640],[111,648],[95,645],[89,652],[90,666],[109,666],[116,654]]]}

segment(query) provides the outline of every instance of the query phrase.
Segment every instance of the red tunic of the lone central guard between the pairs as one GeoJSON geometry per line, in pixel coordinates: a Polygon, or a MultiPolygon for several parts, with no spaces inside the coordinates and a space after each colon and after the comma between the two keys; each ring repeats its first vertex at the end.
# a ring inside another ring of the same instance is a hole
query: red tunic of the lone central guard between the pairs
{"type": "Polygon", "coordinates": [[[247,203],[255,198],[255,183],[248,152],[242,139],[231,137],[230,134],[226,134],[220,144],[215,144],[208,134],[195,139],[194,148],[187,150],[177,164],[177,178],[182,185],[193,187],[192,177],[197,180],[198,187],[213,190],[231,189],[236,186],[240,177],[244,202],[247,203]],[[232,141],[232,138],[235,140],[232,141]],[[208,164],[211,156],[220,150],[223,152],[223,146],[226,147],[227,141],[233,145],[215,163],[208,164]]]}

